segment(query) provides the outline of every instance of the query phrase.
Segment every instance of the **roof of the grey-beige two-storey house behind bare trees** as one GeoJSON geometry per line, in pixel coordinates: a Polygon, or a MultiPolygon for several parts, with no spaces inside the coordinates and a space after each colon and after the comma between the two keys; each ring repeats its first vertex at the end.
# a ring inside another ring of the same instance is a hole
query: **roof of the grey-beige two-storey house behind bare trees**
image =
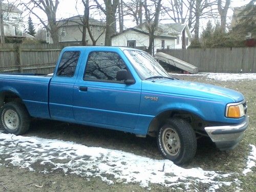
{"type": "MultiPolygon", "coordinates": [[[[73,17],[70,17],[70,18],[65,18],[63,20],[60,20],[60,24],[65,24],[66,26],[74,26],[74,25],[82,25],[82,18],[83,16],[82,15],[76,15],[76,16],[73,16],[73,17]]],[[[95,25],[95,26],[105,26],[105,23],[100,21],[100,20],[97,20],[97,19],[94,19],[94,18],[89,18],[89,25],[95,25]]]]}

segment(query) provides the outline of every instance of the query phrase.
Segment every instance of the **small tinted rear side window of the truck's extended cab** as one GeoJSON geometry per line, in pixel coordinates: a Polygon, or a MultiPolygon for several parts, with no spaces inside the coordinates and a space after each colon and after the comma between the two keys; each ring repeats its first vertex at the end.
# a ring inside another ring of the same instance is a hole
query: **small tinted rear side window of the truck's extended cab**
{"type": "Polygon", "coordinates": [[[79,51],[66,51],[62,54],[59,67],[57,70],[58,76],[73,77],[76,70],[76,65],[80,56],[79,51]]]}

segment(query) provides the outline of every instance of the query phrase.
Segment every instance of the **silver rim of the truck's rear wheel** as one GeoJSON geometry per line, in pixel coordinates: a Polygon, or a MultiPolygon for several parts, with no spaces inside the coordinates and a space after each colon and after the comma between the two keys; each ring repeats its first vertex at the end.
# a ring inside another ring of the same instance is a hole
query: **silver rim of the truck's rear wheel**
{"type": "Polygon", "coordinates": [[[7,110],[4,114],[4,121],[10,130],[16,130],[19,125],[18,114],[13,110],[7,110]]]}

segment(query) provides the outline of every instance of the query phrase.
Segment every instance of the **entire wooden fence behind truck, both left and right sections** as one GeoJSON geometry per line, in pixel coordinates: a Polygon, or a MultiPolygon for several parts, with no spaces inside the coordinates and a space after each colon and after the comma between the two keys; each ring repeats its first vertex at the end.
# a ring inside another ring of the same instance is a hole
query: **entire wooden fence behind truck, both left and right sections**
{"type": "MultiPolygon", "coordinates": [[[[71,44],[0,45],[0,73],[52,73],[59,53],[71,44]]],[[[158,50],[184,60],[200,72],[256,73],[256,48],[158,50]]]]}

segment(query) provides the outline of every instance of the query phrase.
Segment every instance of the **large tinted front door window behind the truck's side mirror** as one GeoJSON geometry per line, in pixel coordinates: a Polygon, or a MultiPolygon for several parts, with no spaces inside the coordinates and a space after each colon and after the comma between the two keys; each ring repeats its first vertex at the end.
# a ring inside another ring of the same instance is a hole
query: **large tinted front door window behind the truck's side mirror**
{"type": "Polygon", "coordinates": [[[88,57],[83,80],[116,81],[117,71],[126,66],[117,53],[91,52],[88,57]]]}

